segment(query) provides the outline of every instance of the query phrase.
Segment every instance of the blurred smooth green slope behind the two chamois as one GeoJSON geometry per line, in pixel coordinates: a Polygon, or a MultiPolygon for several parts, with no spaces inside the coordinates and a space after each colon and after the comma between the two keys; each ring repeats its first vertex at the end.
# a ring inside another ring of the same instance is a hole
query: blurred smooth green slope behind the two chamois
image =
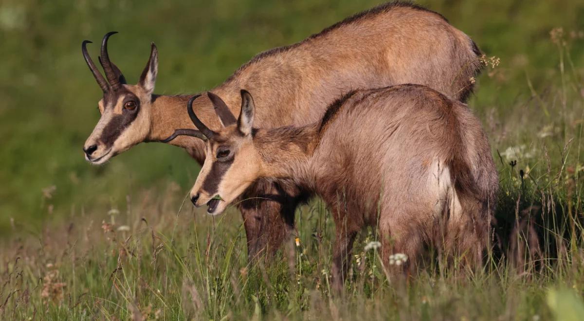
{"type": "MultiPolygon", "coordinates": [[[[182,149],[164,144],[141,144],[103,166],[85,162],[81,148],[99,119],[101,92],[82,58],[82,40],[94,41],[89,50],[95,60],[103,34],[120,32],[110,41],[110,57],[131,83],[154,41],[155,91],[195,93],[218,85],[260,51],[303,40],[380,3],[2,0],[0,233],[9,233],[11,224],[35,231],[43,221],[107,211],[120,207],[127,195],[168,184],[178,183],[186,193],[194,182],[199,166],[182,149]]],[[[584,65],[584,1],[417,3],[442,13],[487,55],[500,58],[497,69],[481,75],[470,102],[483,119],[494,110],[505,121],[518,102],[549,89],[548,78],[557,76],[553,71],[560,64],[550,40],[554,27],[571,39],[569,61],[584,65]]],[[[507,147],[492,141],[493,149],[507,147]]]]}

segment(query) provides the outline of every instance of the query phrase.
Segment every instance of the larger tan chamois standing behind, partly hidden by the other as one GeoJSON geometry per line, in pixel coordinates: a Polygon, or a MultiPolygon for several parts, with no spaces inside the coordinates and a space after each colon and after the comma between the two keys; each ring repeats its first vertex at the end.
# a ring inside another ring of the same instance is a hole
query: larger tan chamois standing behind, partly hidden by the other
{"type": "MultiPolygon", "coordinates": [[[[154,95],[158,51],[154,44],[150,60],[137,85],[128,85],[120,69],[110,61],[103,38],[100,75],[85,48],[82,51],[100,88],[102,116],[85,142],[85,157],[102,164],[140,142],[169,142],[186,149],[198,162],[204,160],[204,144],[181,136],[194,128],[185,113],[193,95],[154,95]]],[[[227,81],[212,91],[228,106],[239,106],[239,88],[251,90],[258,106],[255,123],[261,127],[303,125],[325,113],[342,93],[359,88],[378,88],[399,83],[419,83],[437,89],[455,100],[470,95],[480,69],[480,51],[463,32],[443,16],[419,6],[394,2],[343,20],[291,46],[256,55],[227,81]]],[[[210,128],[219,128],[207,95],[193,108],[210,128]]],[[[232,109],[236,112],[236,109],[232,109]]],[[[307,194],[291,184],[281,186],[265,180],[246,190],[238,204],[244,218],[251,257],[269,245],[277,249],[293,231],[294,209],[307,194]]]]}

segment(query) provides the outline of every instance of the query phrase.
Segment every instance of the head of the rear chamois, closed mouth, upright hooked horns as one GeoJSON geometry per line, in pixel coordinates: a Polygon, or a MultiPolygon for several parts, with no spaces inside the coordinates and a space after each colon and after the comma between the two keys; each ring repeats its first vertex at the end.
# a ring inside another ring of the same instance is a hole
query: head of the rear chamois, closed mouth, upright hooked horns
{"type": "Polygon", "coordinates": [[[127,85],[126,78],[107,54],[107,39],[115,33],[107,33],[102,41],[99,62],[105,78],[87,52],[86,44],[91,41],[85,40],[81,44],[89,70],[103,90],[103,98],[98,103],[102,116],[83,148],[85,159],[93,164],[105,163],[112,156],[144,141],[151,127],[152,91],[158,72],[157,48],[152,43],[150,59],[137,85],[127,85]]]}

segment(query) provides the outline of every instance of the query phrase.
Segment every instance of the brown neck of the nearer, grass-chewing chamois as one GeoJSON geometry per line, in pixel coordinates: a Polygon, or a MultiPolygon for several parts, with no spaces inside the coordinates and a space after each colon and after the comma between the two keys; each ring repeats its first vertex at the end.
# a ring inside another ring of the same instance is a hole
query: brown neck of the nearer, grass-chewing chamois
{"type": "Polygon", "coordinates": [[[303,185],[317,142],[317,124],[257,130],[253,145],[262,162],[262,176],[291,179],[303,185]]]}

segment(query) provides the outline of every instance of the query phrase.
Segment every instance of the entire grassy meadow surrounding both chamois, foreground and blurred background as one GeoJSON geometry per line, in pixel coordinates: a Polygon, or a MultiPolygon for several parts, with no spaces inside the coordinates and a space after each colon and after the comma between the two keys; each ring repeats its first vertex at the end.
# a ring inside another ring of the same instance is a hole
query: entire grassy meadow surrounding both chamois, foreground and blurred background
{"type": "Polygon", "coordinates": [[[156,92],[194,93],[378,3],[2,1],[0,318],[582,319],[580,1],[418,2],[486,55],[469,107],[491,141],[500,193],[476,273],[431,260],[415,278],[390,278],[365,231],[335,296],[334,226],[321,201],[298,210],[275,260],[248,264],[237,210],[209,217],[186,200],[199,166],[184,151],[141,144],[103,166],[85,162],[101,93],[82,40],[119,31],[110,56],[130,82],[154,41],[156,92]]]}

